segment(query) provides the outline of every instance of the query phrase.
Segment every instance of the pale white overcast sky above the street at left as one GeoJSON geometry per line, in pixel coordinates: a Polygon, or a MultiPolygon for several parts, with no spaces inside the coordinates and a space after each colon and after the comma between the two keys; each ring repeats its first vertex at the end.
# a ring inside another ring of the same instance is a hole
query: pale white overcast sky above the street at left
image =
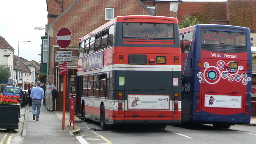
{"type": "MultiPolygon", "coordinates": [[[[15,49],[14,55],[39,62],[42,40],[47,24],[46,0],[0,0],[0,36],[15,49]],[[20,42],[19,41],[31,41],[20,42]]],[[[47,30],[46,30],[47,31],[47,30]]],[[[40,63],[40,62],[39,62],[40,63]]]]}

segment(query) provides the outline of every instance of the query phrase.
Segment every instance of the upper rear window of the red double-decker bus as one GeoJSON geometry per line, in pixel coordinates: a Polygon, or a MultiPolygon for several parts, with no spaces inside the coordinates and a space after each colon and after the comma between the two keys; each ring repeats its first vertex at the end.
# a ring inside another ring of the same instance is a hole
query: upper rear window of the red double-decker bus
{"type": "Polygon", "coordinates": [[[123,23],[123,37],[174,38],[173,24],[123,23]]]}

